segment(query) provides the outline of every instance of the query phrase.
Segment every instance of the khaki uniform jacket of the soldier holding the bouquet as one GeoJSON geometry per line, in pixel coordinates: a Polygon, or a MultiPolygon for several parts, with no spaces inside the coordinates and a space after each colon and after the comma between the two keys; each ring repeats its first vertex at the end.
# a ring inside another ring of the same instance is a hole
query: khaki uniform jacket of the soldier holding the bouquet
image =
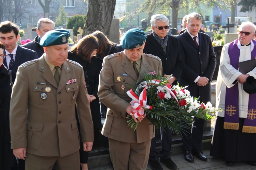
{"type": "Polygon", "coordinates": [[[151,140],[155,136],[155,128],[147,119],[143,119],[136,131],[127,127],[126,108],[131,98],[126,92],[141,82],[144,73],[156,71],[162,74],[161,60],[150,54],[142,54],[141,70],[139,78],[132,67],[130,60],[124,52],[108,55],[103,59],[103,68],[100,72],[98,96],[104,105],[108,107],[106,120],[101,133],[111,139],[141,143],[151,140]],[[122,80],[118,79],[121,77],[122,80]]]}

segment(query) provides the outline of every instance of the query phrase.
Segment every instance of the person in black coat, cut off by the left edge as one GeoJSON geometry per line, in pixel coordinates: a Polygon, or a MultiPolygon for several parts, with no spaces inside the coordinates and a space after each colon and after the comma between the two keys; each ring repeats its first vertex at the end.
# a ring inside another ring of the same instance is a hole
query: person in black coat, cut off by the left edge
{"type": "MultiPolygon", "coordinates": [[[[4,45],[0,43],[0,169],[10,170],[14,164],[15,156],[11,149],[9,110],[11,100],[11,81],[9,70],[4,66],[4,45]]],[[[12,77],[16,72],[12,71],[12,77]]]]}

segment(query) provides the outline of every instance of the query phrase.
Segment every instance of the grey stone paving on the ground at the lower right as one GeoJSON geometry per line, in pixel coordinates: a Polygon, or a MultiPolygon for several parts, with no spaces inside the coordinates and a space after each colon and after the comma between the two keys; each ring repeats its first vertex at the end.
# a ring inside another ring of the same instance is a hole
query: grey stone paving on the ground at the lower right
{"type": "MultiPolygon", "coordinates": [[[[239,169],[256,170],[255,166],[251,166],[246,162],[236,163],[234,166],[227,166],[224,158],[214,158],[209,156],[210,150],[205,150],[203,151],[203,153],[205,154],[205,156],[207,156],[208,161],[202,161],[197,159],[197,157],[194,157],[195,159],[194,163],[189,163],[184,159],[183,154],[171,155],[171,159],[177,165],[177,170],[239,170],[239,169]]],[[[165,164],[162,164],[161,162],[160,164],[163,167],[163,170],[169,170],[169,168],[167,168],[165,164]]],[[[113,170],[113,168],[101,167],[100,169],[94,168],[91,170],[113,170]]],[[[148,165],[146,170],[152,170],[152,169],[148,165]]]]}

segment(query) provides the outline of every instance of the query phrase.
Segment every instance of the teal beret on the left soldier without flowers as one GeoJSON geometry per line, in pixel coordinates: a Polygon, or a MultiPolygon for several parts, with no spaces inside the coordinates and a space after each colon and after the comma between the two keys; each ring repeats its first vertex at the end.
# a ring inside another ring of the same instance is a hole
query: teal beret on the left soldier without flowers
{"type": "Polygon", "coordinates": [[[40,39],[40,46],[48,47],[68,43],[70,32],[68,30],[51,30],[44,34],[40,39]]]}

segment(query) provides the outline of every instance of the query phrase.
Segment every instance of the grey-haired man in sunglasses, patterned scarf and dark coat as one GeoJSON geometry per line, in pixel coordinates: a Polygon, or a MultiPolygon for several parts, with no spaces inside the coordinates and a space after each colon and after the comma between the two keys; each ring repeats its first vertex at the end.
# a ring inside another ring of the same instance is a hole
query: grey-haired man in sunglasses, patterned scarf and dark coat
{"type": "MultiPolygon", "coordinates": [[[[162,61],[163,74],[170,77],[168,83],[177,84],[184,68],[179,41],[176,37],[167,35],[169,19],[163,14],[151,17],[152,33],[147,35],[144,53],[158,56],[162,61]]],[[[155,131],[157,132],[157,130],[155,131]]],[[[169,128],[161,128],[162,149],[160,151],[160,162],[168,168],[176,169],[177,166],[171,160],[172,132],[169,128]]],[[[151,141],[150,157],[148,163],[152,169],[161,170],[158,162],[158,151],[156,150],[156,137],[151,141]]]]}

